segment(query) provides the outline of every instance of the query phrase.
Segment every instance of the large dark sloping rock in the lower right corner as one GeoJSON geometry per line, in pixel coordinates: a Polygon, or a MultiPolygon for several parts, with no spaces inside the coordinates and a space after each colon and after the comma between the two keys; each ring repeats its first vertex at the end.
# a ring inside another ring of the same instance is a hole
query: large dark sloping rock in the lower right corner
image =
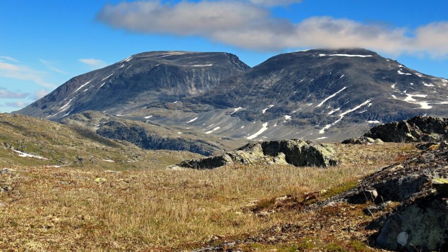
{"type": "MultiPolygon", "coordinates": [[[[391,213],[374,220],[375,245],[391,250],[446,251],[448,249],[448,143],[387,166],[358,186],[322,204],[400,202],[391,213]]],[[[369,209],[369,208],[368,208],[369,209]]],[[[372,214],[372,213],[370,213],[372,214]]]]}

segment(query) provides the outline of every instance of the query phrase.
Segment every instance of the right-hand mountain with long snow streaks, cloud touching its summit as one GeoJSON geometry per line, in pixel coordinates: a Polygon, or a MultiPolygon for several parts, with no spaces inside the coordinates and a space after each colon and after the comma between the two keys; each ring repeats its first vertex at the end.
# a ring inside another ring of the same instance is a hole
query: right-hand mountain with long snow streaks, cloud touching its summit
{"type": "Polygon", "coordinates": [[[447,83],[366,49],[316,49],[277,55],[174,108],[144,111],[167,124],[198,118],[190,124],[228,137],[339,141],[382,122],[446,115],[447,83]]]}

